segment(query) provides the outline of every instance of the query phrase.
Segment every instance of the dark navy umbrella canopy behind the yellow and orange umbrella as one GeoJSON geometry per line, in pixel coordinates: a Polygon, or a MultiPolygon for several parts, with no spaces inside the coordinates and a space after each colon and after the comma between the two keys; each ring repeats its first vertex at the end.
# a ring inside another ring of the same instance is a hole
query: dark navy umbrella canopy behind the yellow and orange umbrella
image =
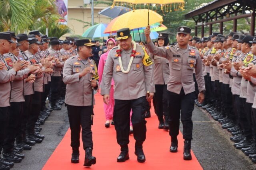
{"type": "Polygon", "coordinates": [[[114,19],[129,11],[131,11],[131,9],[124,6],[110,6],[104,10],[101,10],[98,12],[98,14],[114,19]]]}

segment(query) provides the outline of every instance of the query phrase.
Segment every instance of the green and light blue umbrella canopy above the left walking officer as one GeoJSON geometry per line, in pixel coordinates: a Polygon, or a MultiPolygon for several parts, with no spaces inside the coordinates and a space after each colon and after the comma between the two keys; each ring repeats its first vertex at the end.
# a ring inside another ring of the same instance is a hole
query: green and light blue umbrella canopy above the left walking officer
{"type": "Polygon", "coordinates": [[[110,34],[103,33],[107,26],[108,26],[107,23],[98,23],[96,25],[93,25],[88,29],[86,29],[82,37],[86,37],[86,38],[107,37],[110,34]]]}

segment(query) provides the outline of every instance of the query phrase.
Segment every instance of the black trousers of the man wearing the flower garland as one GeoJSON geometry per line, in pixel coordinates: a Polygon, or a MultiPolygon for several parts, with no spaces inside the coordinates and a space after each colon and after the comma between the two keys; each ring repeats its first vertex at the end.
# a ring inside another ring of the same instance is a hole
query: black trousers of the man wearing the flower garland
{"type": "Polygon", "coordinates": [[[132,109],[133,136],[136,141],[146,139],[145,105],[146,97],[134,100],[115,99],[113,120],[115,122],[116,138],[119,145],[129,143],[130,111],[132,109]]]}

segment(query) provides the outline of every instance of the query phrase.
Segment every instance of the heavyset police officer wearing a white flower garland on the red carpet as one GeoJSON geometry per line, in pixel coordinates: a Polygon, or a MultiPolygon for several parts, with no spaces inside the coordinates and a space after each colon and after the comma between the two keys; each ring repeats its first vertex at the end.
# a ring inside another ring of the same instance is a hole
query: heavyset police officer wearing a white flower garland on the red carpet
{"type": "Polygon", "coordinates": [[[121,146],[121,153],[117,162],[129,159],[129,124],[132,109],[132,126],[135,143],[135,154],[138,162],[145,162],[146,158],[142,144],[146,139],[145,105],[146,94],[148,102],[154,96],[152,61],[141,45],[132,41],[130,29],[117,31],[119,45],[110,50],[106,61],[101,85],[104,103],[108,104],[112,77],[115,82],[114,90],[114,122],[117,142],[121,146]],[[124,100],[125,96],[125,100],[124,100]]]}

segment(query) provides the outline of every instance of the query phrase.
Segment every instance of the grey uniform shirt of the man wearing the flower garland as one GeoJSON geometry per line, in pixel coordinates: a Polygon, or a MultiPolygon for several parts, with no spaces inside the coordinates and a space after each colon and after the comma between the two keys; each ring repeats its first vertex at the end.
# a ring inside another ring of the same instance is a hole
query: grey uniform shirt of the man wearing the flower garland
{"type": "MultiPolygon", "coordinates": [[[[141,45],[136,45],[136,56],[133,59],[130,71],[123,73],[120,69],[117,47],[114,47],[108,53],[107,61],[104,66],[101,94],[109,94],[112,77],[115,82],[114,98],[118,100],[133,100],[142,96],[146,96],[146,92],[154,93],[155,86],[153,81],[152,64],[145,66],[142,60],[145,57],[144,50],[141,45]]],[[[127,70],[130,61],[132,49],[122,51],[122,65],[127,70]]],[[[150,57],[148,57],[150,59],[150,57]]]]}

